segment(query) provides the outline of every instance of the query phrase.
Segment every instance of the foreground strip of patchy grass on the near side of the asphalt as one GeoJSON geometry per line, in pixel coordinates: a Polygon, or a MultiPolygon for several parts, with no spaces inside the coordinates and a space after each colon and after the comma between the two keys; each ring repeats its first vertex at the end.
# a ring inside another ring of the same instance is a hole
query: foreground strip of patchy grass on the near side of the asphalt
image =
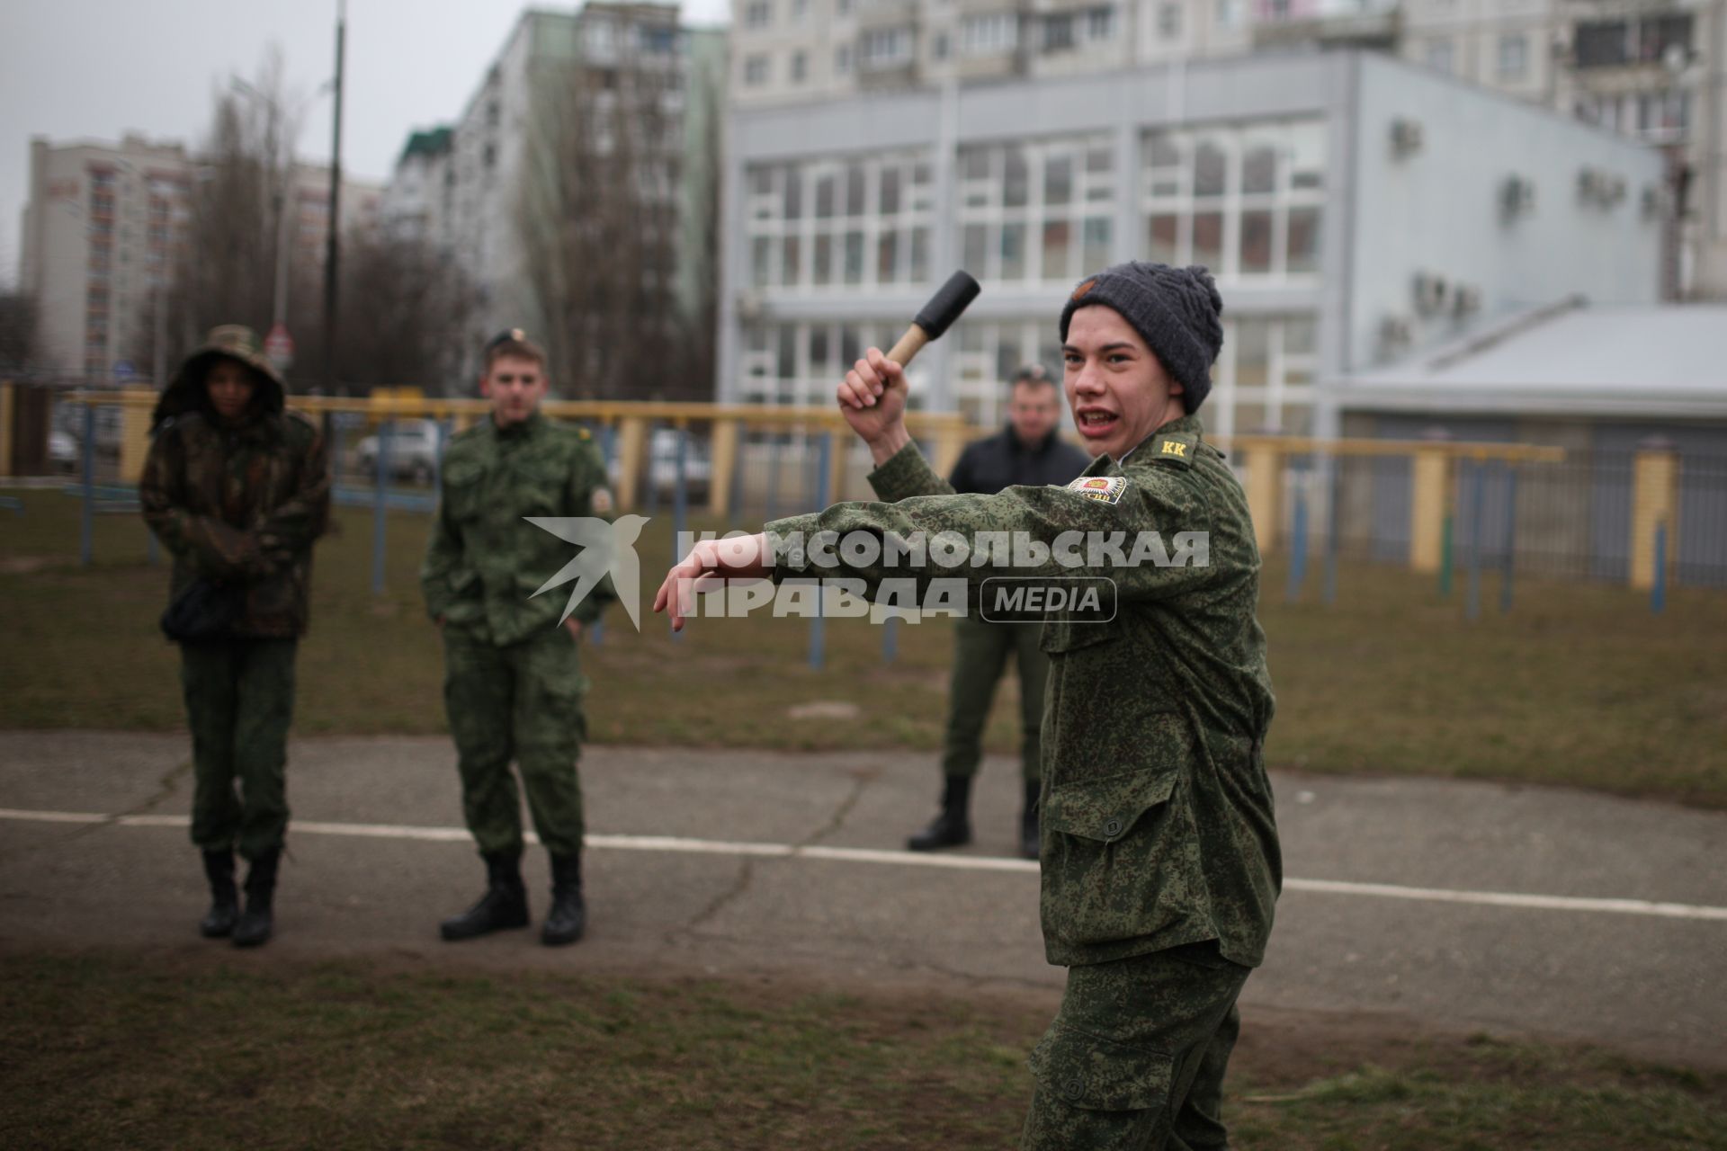
{"type": "MultiPolygon", "coordinates": [[[[1048,1008],[760,982],[0,958],[0,1142],[1012,1146],[1048,1008]]],[[[1243,1151],[1727,1148],[1727,1077],[1587,1047],[1247,1016],[1243,1151]]]]}

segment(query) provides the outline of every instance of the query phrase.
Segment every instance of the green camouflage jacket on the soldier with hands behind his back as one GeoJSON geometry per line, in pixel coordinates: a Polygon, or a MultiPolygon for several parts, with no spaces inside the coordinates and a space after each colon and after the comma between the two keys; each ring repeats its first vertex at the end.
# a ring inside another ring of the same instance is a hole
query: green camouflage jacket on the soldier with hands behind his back
{"type": "MultiPolygon", "coordinates": [[[[589,431],[535,412],[508,428],[484,419],[452,437],[420,566],[427,614],[497,645],[556,626],[568,588],[534,592],[577,552],[525,516],[611,518],[606,461],[589,431]]],[[[592,623],[610,599],[604,580],[572,618],[592,623]]]]}

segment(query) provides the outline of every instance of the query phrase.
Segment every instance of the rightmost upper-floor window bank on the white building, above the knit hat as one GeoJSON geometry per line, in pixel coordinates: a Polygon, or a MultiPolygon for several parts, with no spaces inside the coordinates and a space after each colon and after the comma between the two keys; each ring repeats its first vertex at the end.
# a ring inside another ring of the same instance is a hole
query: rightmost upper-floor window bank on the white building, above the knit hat
{"type": "Polygon", "coordinates": [[[1142,150],[1143,252],[1223,281],[1314,276],[1325,209],[1318,121],[1155,131],[1142,150]]]}

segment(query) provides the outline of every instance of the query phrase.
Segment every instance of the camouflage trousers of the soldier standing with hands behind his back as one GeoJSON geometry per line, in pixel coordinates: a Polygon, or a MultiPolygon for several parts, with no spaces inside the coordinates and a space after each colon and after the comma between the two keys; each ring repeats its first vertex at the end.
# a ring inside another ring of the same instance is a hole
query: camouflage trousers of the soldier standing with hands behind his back
{"type": "Polygon", "coordinates": [[[444,709],[456,739],[461,811],[482,854],[522,852],[522,799],[554,856],[582,849],[582,783],[575,761],[587,735],[582,664],[565,628],[497,645],[444,626],[444,709]]]}

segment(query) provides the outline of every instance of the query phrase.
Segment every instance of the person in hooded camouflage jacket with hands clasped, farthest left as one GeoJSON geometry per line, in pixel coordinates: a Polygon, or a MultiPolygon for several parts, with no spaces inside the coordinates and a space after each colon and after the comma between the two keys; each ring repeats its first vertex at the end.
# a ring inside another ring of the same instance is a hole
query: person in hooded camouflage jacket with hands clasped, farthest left
{"type": "Polygon", "coordinates": [[[285,785],[294,652],[306,635],[313,540],[330,514],[318,425],[285,411],[282,378],[249,328],[216,328],[162,390],[138,502],[174,556],[171,599],[199,580],[235,597],[219,635],[181,644],[192,726],[192,842],[211,909],[199,930],[252,947],[269,939],[285,785]],[[235,796],[235,780],[240,794],[235,796]],[[250,861],[245,911],[233,849],[250,861]]]}

